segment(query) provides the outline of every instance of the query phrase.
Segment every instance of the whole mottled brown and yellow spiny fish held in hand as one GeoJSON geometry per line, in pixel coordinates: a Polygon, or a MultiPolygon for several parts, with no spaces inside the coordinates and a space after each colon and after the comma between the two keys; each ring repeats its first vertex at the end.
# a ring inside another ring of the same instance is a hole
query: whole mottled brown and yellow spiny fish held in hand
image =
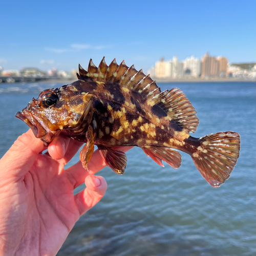
{"type": "Polygon", "coordinates": [[[197,112],[178,88],[161,91],[150,75],[114,59],[88,70],[79,64],[78,80],[41,92],[16,113],[45,146],[65,135],[84,144],[79,157],[84,169],[97,145],[105,164],[124,174],[127,157],[116,146],[138,146],[156,163],[181,165],[179,151],[191,156],[213,187],[230,176],[240,153],[240,135],[218,132],[190,136],[199,124],[197,112]],[[179,150],[179,151],[177,151],[179,150]]]}

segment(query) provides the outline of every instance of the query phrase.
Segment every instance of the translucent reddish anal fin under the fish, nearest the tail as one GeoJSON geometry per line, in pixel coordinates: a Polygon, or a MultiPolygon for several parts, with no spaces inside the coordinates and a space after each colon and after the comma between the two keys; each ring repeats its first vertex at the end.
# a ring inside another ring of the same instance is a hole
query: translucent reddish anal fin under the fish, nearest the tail
{"type": "Polygon", "coordinates": [[[177,150],[164,146],[144,145],[140,147],[147,156],[151,157],[159,165],[164,166],[163,160],[175,169],[180,167],[181,155],[177,150]]]}

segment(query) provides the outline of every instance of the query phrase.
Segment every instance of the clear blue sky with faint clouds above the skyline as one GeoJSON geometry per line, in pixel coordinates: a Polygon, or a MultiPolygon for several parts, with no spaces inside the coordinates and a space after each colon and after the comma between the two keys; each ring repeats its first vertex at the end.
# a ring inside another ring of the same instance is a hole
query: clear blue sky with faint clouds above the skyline
{"type": "Polygon", "coordinates": [[[0,66],[87,68],[105,56],[146,72],[160,57],[206,51],[255,61],[255,1],[5,1],[0,66]]]}

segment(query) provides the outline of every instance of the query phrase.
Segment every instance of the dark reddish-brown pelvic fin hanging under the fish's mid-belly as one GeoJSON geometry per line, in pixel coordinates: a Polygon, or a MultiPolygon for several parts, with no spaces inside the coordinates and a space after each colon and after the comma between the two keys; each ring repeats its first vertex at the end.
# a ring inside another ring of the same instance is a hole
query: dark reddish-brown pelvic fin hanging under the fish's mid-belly
{"type": "Polygon", "coordinates": [[[105,164],[109,166],[115,173],[124,174],[127,162],[125,153],[119,150],[114,150],[113,147],[106,147],[102,145],[97,146],[105,164]]]}

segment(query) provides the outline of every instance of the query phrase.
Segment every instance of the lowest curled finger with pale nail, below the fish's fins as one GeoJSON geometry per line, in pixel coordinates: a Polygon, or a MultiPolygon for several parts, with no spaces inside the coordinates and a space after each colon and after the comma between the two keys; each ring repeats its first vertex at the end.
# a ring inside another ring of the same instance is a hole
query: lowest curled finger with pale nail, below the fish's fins
{"type": "Polygon", "coordinates": [[[75,195],[75,201],[80,216],[90,210],[105,195],[107,185],[101,176],[89,175],[86,177],[86,188],[75,195]]]}

